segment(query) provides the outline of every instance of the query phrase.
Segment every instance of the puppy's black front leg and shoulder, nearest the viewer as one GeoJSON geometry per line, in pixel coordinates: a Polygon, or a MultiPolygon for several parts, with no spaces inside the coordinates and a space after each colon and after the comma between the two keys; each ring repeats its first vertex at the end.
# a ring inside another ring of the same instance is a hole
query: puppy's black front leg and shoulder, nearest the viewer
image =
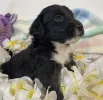
{"type": "Polygon", "coordinates": [[[63,100],[63,95],[60,91],[60,72],[61,68],[59,64],[56,64],[54,61],[46,62],[41,68],[38,68],[37,77],[42,82],[43,86],[49,91],[56,91],[57,100],[63,100]]]}

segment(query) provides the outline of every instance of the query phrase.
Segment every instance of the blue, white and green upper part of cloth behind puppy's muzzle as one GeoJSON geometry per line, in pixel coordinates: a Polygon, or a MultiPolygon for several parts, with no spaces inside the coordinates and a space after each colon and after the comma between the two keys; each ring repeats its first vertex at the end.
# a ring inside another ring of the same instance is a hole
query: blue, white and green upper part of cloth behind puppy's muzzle
{"type": "Polygon", "coordinates": [[[93,15],[85,9],[74,9],[74,16],[83,23],[85,34],[83,38],[88,38],[103,33],[103,20],[93,15]]]}

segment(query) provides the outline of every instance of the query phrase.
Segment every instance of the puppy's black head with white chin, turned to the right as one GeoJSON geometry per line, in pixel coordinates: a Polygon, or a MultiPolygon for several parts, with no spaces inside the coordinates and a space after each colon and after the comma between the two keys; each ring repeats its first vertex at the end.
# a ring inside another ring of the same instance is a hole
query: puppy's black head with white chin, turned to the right
{"type": "Polygon", "coordinates": [[[30,28],[30,34],[34,38],[47,38],[54,42],[71,44],[84,34],[84,30],[70,9],[52,5],[44,8],[38,15],[30,28]]]}

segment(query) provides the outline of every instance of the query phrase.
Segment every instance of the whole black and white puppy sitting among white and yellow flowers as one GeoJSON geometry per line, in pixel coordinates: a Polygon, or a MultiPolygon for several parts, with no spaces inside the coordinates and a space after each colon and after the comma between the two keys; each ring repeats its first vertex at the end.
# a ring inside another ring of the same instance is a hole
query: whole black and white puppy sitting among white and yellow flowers
{"type": "Polygon", "coordinates": [[[9,78],[29,76],[39,78],[44,87],[57,92],[57,100],[63,100],[60,91],[61,68],[71,70],[69,45],[83,34],[83,25],[65,6],[52,5],[42,10],[30,28],[31,45],[14,55],[1,66],[9,78]]]}

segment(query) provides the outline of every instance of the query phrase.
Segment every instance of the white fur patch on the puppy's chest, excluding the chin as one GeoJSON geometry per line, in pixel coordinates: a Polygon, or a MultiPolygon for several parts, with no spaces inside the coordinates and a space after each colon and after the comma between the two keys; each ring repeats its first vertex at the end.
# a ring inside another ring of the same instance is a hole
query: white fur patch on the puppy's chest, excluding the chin
{"type": "Polygon", "coordinates": [[[53,54],[52,60],[55,60],[64,66],[67,61],[69,62],[70,47],[58,42],[53,42],[53,44],[55,45],[55,51],[57,51],[57,53],[53,54]]]}

